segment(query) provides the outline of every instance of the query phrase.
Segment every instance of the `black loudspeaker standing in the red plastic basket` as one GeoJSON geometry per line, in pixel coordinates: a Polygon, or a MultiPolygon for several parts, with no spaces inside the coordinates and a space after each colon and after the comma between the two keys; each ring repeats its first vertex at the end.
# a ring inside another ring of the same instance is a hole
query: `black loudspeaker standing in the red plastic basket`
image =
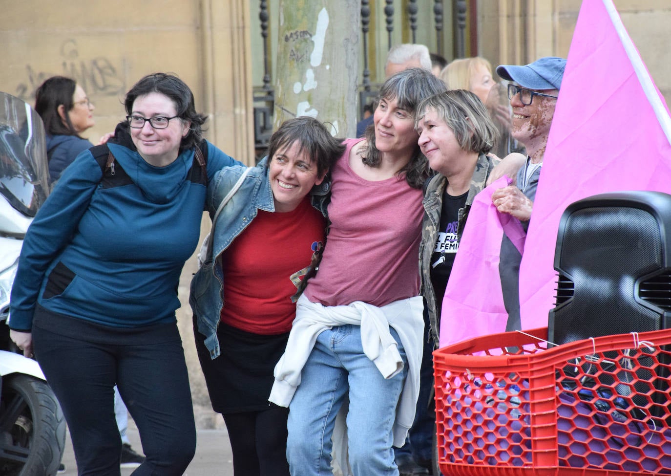
{"type": "Polygon", "coordinates": [[[631,191],[569,205],[559,224],[559,273],[548,340],[671,326],[671,195],[631,191]]]}

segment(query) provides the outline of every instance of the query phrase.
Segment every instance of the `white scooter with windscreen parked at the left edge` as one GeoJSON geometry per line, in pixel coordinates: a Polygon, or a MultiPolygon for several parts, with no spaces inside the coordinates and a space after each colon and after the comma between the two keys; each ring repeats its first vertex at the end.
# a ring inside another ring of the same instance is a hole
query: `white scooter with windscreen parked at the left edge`
{"type": "Polygon", "coordinates": [[[44,126],[30,105],[0,93],[0,475],[52,476],[66,423],[40,365],[9,339],[6,320],[19,252],[48,193],[44,126]]]}

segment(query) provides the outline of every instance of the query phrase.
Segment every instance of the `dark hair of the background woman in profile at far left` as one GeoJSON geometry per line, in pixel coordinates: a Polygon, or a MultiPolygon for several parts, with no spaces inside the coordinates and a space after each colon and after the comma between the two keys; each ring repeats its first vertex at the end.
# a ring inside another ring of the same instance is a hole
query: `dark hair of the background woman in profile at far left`
{"type": "Polygon", "coordinates": [[[68,111],[74,107],[74,79],[64,76],[52,76],[35,91],[35,111],[42,117],[44,130],[50,136],[77,136],[68,111]],[[63,105],[65,122],[58,114],[58,106],[63,105]]]}

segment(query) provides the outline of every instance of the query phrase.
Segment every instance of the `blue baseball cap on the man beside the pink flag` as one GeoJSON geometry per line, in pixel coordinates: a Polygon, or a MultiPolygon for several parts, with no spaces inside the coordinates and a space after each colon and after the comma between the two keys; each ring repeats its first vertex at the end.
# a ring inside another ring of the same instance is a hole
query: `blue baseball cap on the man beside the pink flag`
{"type": "Polygon", "coordinates": [[[546,56],[524,66],[501,64],[497,67],[497,75],[529,89],[559,89],[565,68],[564,58],[546,56]]]}

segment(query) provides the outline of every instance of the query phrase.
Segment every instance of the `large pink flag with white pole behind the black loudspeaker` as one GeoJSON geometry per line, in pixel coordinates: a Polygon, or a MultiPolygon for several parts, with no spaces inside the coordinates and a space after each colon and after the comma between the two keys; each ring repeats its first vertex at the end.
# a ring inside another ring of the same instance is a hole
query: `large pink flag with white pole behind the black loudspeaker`
{"type": "Polygon", "coordinates": [[[670,142],[666,103],[612,1],[583,1],[520,267],[523,328],[548,324],[554,250],[566,206],[611,191],[669,193],[670,142]]]}

